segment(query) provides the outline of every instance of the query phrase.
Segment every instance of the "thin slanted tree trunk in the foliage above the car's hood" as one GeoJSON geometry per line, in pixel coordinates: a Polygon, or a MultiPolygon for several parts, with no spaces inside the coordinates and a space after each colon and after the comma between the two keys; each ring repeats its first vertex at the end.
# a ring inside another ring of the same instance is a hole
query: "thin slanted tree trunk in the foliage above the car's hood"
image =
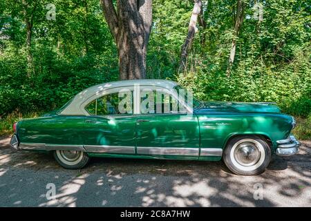
{"type": "Polygon", "coordinates": [[[232,39],[231,50],[229,55],[229,64],[227,67],[227,77],[230,77],[232,65],[234,63],[234,57],[236,56],[236,39],[238,38],[238,34],[240,33],[243,19],[244,19],[244,11],[245,11],[245,3],[243,0],[238,0],[236,6],[236,16],[234,18],[234,39],[232,39]]]}

